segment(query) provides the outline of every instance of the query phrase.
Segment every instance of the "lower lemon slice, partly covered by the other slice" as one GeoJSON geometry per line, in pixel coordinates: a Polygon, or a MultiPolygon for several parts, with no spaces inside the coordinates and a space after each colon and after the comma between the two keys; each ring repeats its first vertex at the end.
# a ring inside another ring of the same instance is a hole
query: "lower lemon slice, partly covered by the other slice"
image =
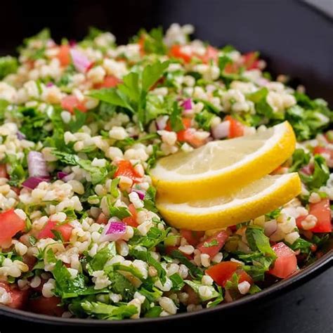
{"type": "Polygon", "coordinates": [[[157,208],[169,225],[188,230],[226,228],[266,214],[301,192],[295,172],[266,176],[228,195],[172,203],[157,199],[157,208]]]}

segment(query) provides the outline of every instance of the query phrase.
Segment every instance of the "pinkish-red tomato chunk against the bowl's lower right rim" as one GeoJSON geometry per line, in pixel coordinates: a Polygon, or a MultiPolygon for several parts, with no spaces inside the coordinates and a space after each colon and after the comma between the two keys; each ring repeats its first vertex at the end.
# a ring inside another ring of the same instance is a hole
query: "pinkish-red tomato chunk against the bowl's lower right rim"
{"type": "Polygon", "coordinates": [[[268,273],[285,279],[297,269],[296,254],[283,242],[273,245],[272,249],[278,258],[275,259],[274,266],[268,273]]]}

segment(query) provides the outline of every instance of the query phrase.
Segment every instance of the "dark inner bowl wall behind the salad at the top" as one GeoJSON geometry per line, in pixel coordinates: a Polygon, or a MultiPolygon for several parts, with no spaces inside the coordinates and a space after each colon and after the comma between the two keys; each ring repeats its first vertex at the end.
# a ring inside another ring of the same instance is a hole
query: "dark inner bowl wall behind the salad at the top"
{"type": "MultiPolygon", "coordinates": [[[[332,0],[324,1],[333,6],[332,0]]],[[[81,39],[94,25],[119,44],[141,27],[192,23],[195,37],[216,46],[259,50],[273,74],[287,73],[312,97],[333,105],[332,18],[296,0],[7,1],[0,20],[0,54],[50,27],[53,38],[81,39]]]]}

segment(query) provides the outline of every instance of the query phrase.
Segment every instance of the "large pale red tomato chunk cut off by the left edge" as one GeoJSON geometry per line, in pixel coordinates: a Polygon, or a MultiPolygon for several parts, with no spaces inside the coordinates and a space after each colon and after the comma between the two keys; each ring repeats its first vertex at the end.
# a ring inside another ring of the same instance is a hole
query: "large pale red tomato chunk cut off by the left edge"
{"type": "Polygon", "coordinates": [[[25,221],[9,209],[0,214],[0,246],[8,243],[13,236],[25,228],[25,221]]]}

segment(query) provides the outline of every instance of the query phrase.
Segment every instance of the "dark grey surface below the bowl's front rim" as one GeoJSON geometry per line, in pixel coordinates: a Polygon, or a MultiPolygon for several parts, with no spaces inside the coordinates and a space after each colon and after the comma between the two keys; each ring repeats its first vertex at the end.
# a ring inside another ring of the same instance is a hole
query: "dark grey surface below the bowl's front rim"
{"type": "MultiPolygon", "coordinates": [[[[276,296],[264,304],[247,308],[247,311],[220,312],[214,315],[198,316],[189,320],[154,323],[142,332],[159,330],[194,329],[195,327],[220,327],[216,332],[234,333],[332,333],[333,332],[333,268],[314,278],[302,287],[287,294],[276,296]]],[[[0,316],[0,332],[69,332],[74,328],[37,325],[0,316]]],[[[129,329],[131,330],[131,329],[129,329]]],[[[79,332],[121,332],[124,328],[79,329],[79,332]]],[[[141,331],[141,330],[140,330],[141,331]]],[[[163,331],[164,332],[164,331],[163,331]]]]}

